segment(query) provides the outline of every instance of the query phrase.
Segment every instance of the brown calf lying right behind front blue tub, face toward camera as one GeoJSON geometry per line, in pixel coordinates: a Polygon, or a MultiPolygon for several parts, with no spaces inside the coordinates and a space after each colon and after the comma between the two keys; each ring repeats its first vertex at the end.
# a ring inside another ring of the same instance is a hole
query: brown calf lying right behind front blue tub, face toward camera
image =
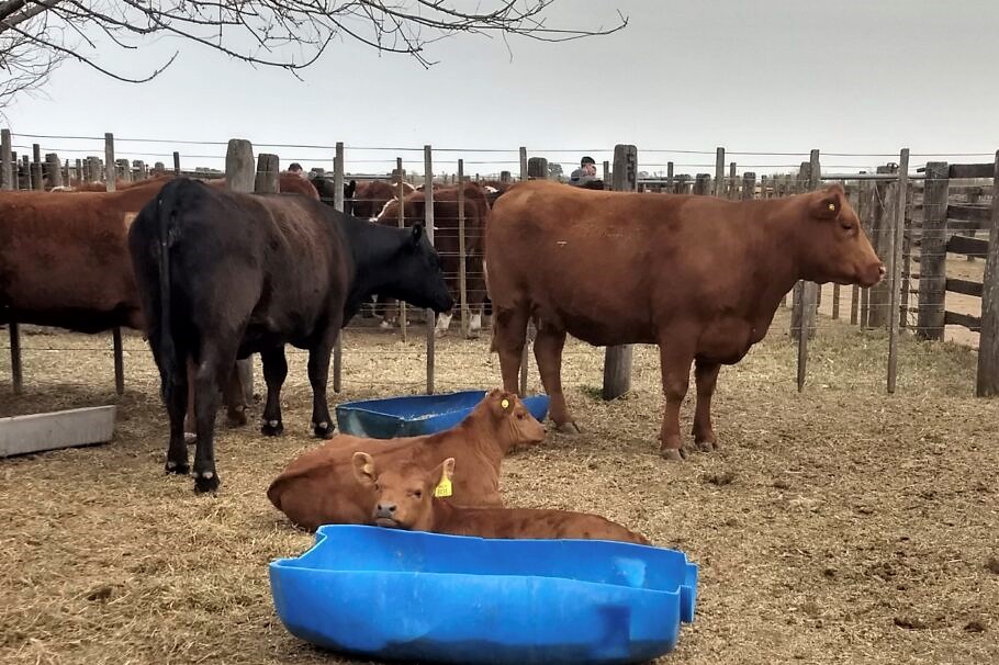
{"type": "Polygon", "coordinates": [[[369,523],[393,529],[481,538],[572,538],[651,544],[639,533],[598,515],[537,508],[465,508],[442,496],[452,492],[454,459],[431,471],[402,461],[379,469],[366,452],[353,453],[353,474],[374,492],[369,523]]]}

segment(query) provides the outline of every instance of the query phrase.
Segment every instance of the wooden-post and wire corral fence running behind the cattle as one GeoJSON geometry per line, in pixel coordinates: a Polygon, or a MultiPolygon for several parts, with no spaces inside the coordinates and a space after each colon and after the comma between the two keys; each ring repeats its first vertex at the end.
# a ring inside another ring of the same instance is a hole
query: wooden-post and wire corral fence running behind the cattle
{"type": "MultiPolygon", "coordinates": [[[[16,136],[16,135],[14,135],[16,136]]],[[[99,137],[59,137],[59,136],[30,136],[19,138],[44,139],[87,139],[97,142],[99,137]]],[[[7,129],[2,132],[2,146],[0,146],[0,184],[3,189],[50,189],[60,185],[74,185],[88,181],[103,181],[108,189],[114,188],[115,181],[135,181],[144,178],[173,173],[194,178],[212,178],[225,174],[229,178],[229,185],[236,185],[240,191],[276,191],[277,178],[280,171],[280,160],[276,153],[261,153],[254,157],[252,145],[242,139],[228,142],[189,142],[197,145],[225,146],[225,169],[211,167],[181,168],[181,154],[179,151],[148,154],[149,159],[116,159],[114,136],[106,134],[102,143],[103,158],[94,154],[74,160],[60,160],[57,151],[46,153],[43,158],[41,145],[34,143],[30,147],[31,157],[13,151],[13,147],[24,149],[24,144],[14,146],[13,136],[7,129]],[[171,167],[157,158],[169,159],[171,167]],[[153,164],[151,167],[148,164],[153,164]],[[240,176],[242,173],[242,176],[240,176]]],[[[120,142],[144,142],[155,139],[119,139],[120,142]]],[[[165,142],[160,142],[165,143],[165,142]]],[[[460,330],[469,331],[469,301],[475,294],[470,293],[468,283],[472,277],[465,264],[465,248],[481,240],[465,228],[465,216],[460,212],[457,219],[435,219],[433,198],[435,189],[452,185],[458,182],[483,181],[506,184],[516,180],[539,179],[549,177],[549,160],[542,156],[528,156],[526,147],[510,150],[492,150],[496,155],[489,155],[487,159],[465,159],[468,153],[475,150],[457,148],[438,148],[431,146],[422,148],[359,148],[347,147],[339,143],[335,146],[292,146],[281,144],[260,144],[268,148],[310,148],[325,153],[323,159],[332,160],[332,173],[325,167],[313,168],[312,176],[326,178],[333,183],[332,203],[338,210],[346,205],[361,202],[360,199],[345,200],[344,183],[348,179],[360,181],[382,180],[393,185],[395,195],[404,195],[408,189],[403,183],[420,185],[427,198],[426,223],[428,235],[435,230],[440,234],[453,233],[457,235],[460,249],[457,250],[460,259],[458,278],[460,286],[458,297],[460,312],[460,330]],[[391,159],[379,158],[372,160],[347,160],[346,150],[381,150],[394,151],[394,164],[391,159]],[[454,158],[453,155],[464,157],[454,158]],[[404,155],[401,157],[399,155],[404,155]],[[444,157],[442,157],[444,155],[444,157]],[[435,171],[435,158],[437,170],[435,171]],[[378,164],[382,168],[371,168],[378,164]],[[451,172],[445,172],[441,165],[447,165],[451,172]],[[423,174],[418,173],[423,167],[423,174]],[[483,178],[479,172],[467,172],[467,168],[487,171],[483,178]],[[497,168],[498,167],[498,168],[497,168]],[[447,230],[445,230],[446,227],[447,230]]],[[[91,149],[77,149],[80,153],[97,153],[91,149]]],[[[878,256],[883,258],[888,274],[875,288],[858,289],[857,286],[842,288],[838,284],[826,284],[821,289],[813,283],[801,282],[785,298],[790,308],[789,337],[797,345],[797,385],[799,390],[805,386],[808,376],[809,341],[816,338],[817,331],[829,322],[845,324],[848,320],[860,329],[872,332],[884,332],[888,340],[886,364],[886,388],[888,392],[896,390],[898,374],[898,339],[902,335],[914,334],[916,337],[927,340],[936,340],[944,337],[944,330],[966,327],[967,331],[978,335],[978,385],[979,395],[999,393],[999,288],[995,284],[999,274],[999,259],[996,239],[997,228],[997,187],[996,162],[949,165],[946,162],[928,161],[925,168],[910,169],[908,150],[901,150],[897,156],[864,155],[865,159],[888,158],[885,164],[869,169],[856,169],[850,165],[821,166],[822,157],[818,150],[812,150],[807,160],[792,166],[790,164],[760,164],[738,165],[726,159],[726,150],[717,148],[714,151],[683,151],[683,150],[650,150],[658,153],[686,153],[696,155],[714,155],[714,164],[683,165],[667,161],[650,164],[639,161],[639,150],[636,146],[618,145],[614,150],[603,150],[608,159],[603,160],[602,178],[590,187],[614,189],[620,191],[644,191],[659,193],[685,193],[699,195],[715,195],[730,200],[774,199],[795,193],[807,192],[823,187],[829,182],[839,182],[843,185],[846,195],[857,212],[862,224],[872,239],[878,256]],[[642,168],[655,168],[659,172],[649,174],[642,168]],[[695,168],[693,172],[676,172],[682,168],[695,168]],[[760,169],[759,171],[756,169],[760,169]],[[752,170],[749,170],[752,169],[752,170]],[[763,172],[764,170],[768,172],[763,172]],[[759,172],[759,176],[757,176],[759,172]],[[975,234],[985,233],[988,239],[975,237],[975,234]],[[965,255],[974,261],[968,266],[976,267],[975,274],[980,277],[957,277],[949,274],[946,261],[947,252],[965,255]],[[984,259],[984,261],[981,260],[984,259]],[[966,302],[951,298],[961,296],[974,298],[976,312],[962,309],[966,302]],[[849,313],[849,314],[848,314],[849,313]],[[805,334],[802,335],[802,330],[805,334]]],[[[542,155],[546,153],[539,150],[542,155]]],[[[575,155],[599,153],[599,150],[563,150],[575,155]]],[[[134,154],[133,154],[134,155],[134,154]]],[[[788,154],[766,153],[733,153],[731,156],[764,157],[768,156],[781,161],[788,154]]],[[[828,154],[834,160],[843,160],[843,154],[828,154]]],[[[928,156],[929,157],[929,156],[928,156]]],[[[184,157],[186,161],[194,162],[198,159],[214,159],[217,164],[222,155],[193,155],[184,157]]],[[[317,161],[315,157],[300,158],[298,156],[284,158],[290,161],[317,161]]],[[[762,161],[762,159],[761,159],[762,161]]],[[[326,165],[329,165],[327,161],[326,165]]],[[[236,189],[234,187],[234,189],[236,189]]],[[[459,211],[463,210],[461,188],[459,191],[459,211]]],[[[405,214],[405,204],[401,206],[399,224],[405,225],[409,219],[405,214]]],[[[481,233],[481,232],[475,232],[481,233]]],[[[433,237],[433,236],[431,236],[433,237]]],[[[439,236],[442,238],[444,236],[439,236]]],[[[447,277],[454,277],[449,274],[447,277]]],[[[429,312],[407,313],[405,304],[399,306],[399,323],[394,332],[408,342],[411,324],[424,319],[423,335],[425,336],[426,375],[422,391],[435,392],[435,367],[437,363],[435,348],[435,317],[429,312]],[[412,317],[412,318],[411,318],[412,317]]],[[[384,314],[384,312],[382,312],[384,314]]],[[[379,316],[375,311],[366,312],[356,317],[349,329],[375,327],[379,316]]],[[[12,380],[15,391],[22,390],[22,369],[20,361],[20,339],[16,324],[9,326],[11,336],[11,367],[12,380]]],[[[483,325],[483,329],[487,326],[483,325]]],[[[115,384],[117,391],[123,390],[123,361],[120,331],[113,334],[115,354],[115,384]]],[[[530,336],[529,336],[530,339],[530,336]]],[[[380,353],[397,353],[412,357],[414,349],[407,346],[395,350],[381,350],[380,353]]],[[[521,369],[521,391],[527,392],[527,368],[529,359],[529,343],[525,348],[525,362],[521,369]]],[[[630,347],[615,347],[606,349],[604,362],[605,398],[616,397],[630,386],[630,347]]],[[[333,387],[340,392],[343,386],[343,349],[338,341],[334,356],[333,387]]],[[[247,377],[251,385],[251,375],[247,377]]],[[[414,387],[411,385],[411,387],[414,387]]]]}

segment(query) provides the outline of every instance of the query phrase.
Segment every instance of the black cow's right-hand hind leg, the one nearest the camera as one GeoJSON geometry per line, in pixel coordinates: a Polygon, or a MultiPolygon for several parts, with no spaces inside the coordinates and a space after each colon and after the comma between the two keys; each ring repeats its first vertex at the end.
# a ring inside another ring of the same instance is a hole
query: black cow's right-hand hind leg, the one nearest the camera
{"type": "Polygon", "coordinates": [[[218,379],[225,376],[236,359],[235,351],[222,353],[212,342],[203,342],[201,360],[194,374],[194,418],[198,443],[194,447],[194,491],[218,488],[215,470],[215,417],[221,402],[218,379]]]}

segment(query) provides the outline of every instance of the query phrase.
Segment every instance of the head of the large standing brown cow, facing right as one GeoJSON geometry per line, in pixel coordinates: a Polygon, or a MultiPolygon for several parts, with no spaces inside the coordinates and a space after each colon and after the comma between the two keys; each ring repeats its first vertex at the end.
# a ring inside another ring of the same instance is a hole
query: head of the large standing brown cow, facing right
{"type": "Polygon", "coordinates": [[[806,194],[805,217],[798,236],[804,279],[865,288],[880,281],[885,266],[841,185],[806,194]]]}

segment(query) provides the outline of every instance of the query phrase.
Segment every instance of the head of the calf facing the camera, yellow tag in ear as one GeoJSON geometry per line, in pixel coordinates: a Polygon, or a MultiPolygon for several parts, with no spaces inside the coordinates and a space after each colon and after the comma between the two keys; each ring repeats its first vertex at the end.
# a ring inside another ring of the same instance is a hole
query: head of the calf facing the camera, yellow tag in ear
{"type": "Polygon", "coordinates": [[[379,527],[429,531],[434,526],[434,492],[454,474],[454,458],[431,471],[412,461],[378,469],[367,452],[353,453],[353,476],[374,491],[371,520],[379,527]]]}

